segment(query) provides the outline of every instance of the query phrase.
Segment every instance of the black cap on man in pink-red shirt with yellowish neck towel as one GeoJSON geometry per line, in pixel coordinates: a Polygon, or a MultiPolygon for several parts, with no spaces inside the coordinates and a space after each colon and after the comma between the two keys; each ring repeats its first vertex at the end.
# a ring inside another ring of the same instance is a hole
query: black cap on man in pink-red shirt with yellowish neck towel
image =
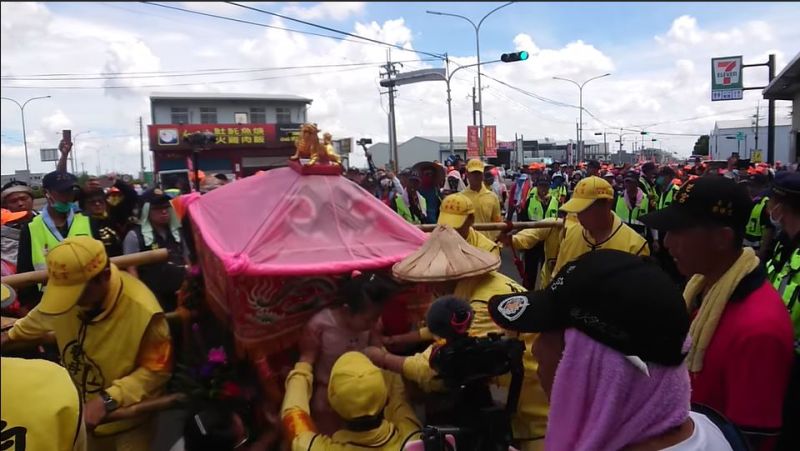
{"type": "Polygon", "coordinates": [[[670,206],[639,220],[665,231],[718,225],[744,232],[752,207],[744,186],[727,177],[708,175],[684,183],[670,206]]]}

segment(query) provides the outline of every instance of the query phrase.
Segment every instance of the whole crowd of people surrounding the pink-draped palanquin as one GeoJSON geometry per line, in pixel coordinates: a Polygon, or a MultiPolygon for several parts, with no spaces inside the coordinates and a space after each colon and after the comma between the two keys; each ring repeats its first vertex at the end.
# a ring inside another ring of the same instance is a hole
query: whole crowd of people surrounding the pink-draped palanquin
{"type": "MultiPolygon", "coordinates": [[[[61,150],[66,161],[69,144],[61,150]]],[[[525,345],[509,418],[518,449],[798,449],[800,173],[735,159],[588,161],[532,164],[506,181],[478,159],[396,175],[369,163],[346,176],[436,229],[391,271],[341,278],[303,330],[280,405],[234,373],[246,389],[223,384],[212,391],[226,396],[189,405],[174,449],[422,449],[423,424],[486,426],[453,405],[432,362],[493,334],[525,345]],[[473,228],[514,220],[538,226],[473,228]],[[521,283],[499,270],[504,248],[523,253],[521,283]],[[388,333],[409,286],[436,300],[423,324],[388,333]]],[[[64,169],[44,177],[40,212],[29,187],[2,188],[4,275],[49,276],[18,293],[4,286],[4,316],[19,319],[2,336],[3,449],[150,449],[154,414],[115,412],[158,398],[179,373],[186,346],[164,312],[181,307],[196,264],[190,218],[177,187],[81,187],[64,169]],[[155,249],[166,261],[111,261],[155,249]],[[55,348],[5,352],[49,333],[55,348]]],[[[221,380],[224,349],[209,350],[196,377],[221,380]]],[[[513,381],[486,384],[507,394],[513,381]]]]}

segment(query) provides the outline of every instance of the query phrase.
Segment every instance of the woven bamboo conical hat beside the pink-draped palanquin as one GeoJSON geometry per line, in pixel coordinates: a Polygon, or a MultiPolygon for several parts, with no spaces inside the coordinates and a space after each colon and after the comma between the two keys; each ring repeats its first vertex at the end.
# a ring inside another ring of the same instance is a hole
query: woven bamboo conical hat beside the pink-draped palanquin
{"type": "Polygon", "coordinates": [[[409,282],[442,282],[486,274],[500,257],[467,243],[448,226],[438,226],[416,252],[395,263],[392,274],[409,282]]]}

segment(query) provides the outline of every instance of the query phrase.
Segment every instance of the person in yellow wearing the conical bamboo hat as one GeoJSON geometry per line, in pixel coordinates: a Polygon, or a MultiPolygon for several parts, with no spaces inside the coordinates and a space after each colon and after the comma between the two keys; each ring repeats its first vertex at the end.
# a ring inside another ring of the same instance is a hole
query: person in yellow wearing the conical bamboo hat
{"type": "MultiPolygon", "coordinates": [[[[432,284],[437,295],[453,295],[467,301],[474,314],[465,333],[480,337],[492,332],[502,333],[489,316],[488,300],[496,295],[524,291],[512,279],[495,271],[499,266],[498,256],[469,245],[452,228],[439,226],[418,251],[397,263],[392,272],[400,280],[432,284]]],[[[529,347],[535,335],[524,334],[521,338],[529,347]]],[[[427,392],[443,391],[445,386],[429,363],[432,350],[430,346],[410,357],[393,355],[376,347],[366,348],[364,353],[375,365],[402,374],[427,392]]],[[[522,392],[517,413],[512,417],[514,438],[523,449],[541,449],[547,424],[547,399],[536,375],[537,363],[530,353],[525,353],[523,365],[522,392]]],[[[505,390],[510,382],[511,377],[506,375],[494,379],[492,385],[505,390]]]]}

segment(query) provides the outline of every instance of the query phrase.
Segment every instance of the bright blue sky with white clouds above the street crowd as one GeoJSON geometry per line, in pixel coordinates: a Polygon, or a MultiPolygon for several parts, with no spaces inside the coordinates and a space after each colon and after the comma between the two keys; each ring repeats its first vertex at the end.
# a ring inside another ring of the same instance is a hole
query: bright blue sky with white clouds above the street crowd
{"type": "MultiPolygon", "coordinates": [[[[387,57],[400,72],[441,68],[430,54],[447,54],[451,70],[473,64],[476,23],[494,2],[258,2],[252,8],[368,37],[399,48],[345,37],[261,11],[226,3],[163,2],[273,27],[336,36],[301,34],[205,17],[152,4],[127,2],[2,2],[0,91],[25,108],[31,170],[47,172],[40,148],[58,145],[72,130],[78,169],[92,174],[138,172],[139,125],[151,123],[152,92],[294,94],[313,99],[308,119],[334,138],[387,141],[388,99],[378,82],[387,57]],[[350,64],[349,66],[345,66],[350,64]],[[353,65],[358,64],[358,65],[353,65]],[[297,69],[279,69],[287,66],[297,69]],[[308,67],[316,66],[316,67],[308,67]],[[227,73],[198,71],[225,69],[227,73]],[[239,70],[231,72],[231,70],[239,70]],[[115,73],[112,76],[103,75],[115,73]],[[187,75],[187,73],[189,75],[187,75]],[[61,75],[73,74],[73,75],[61,75]],[[74,75],[78,74],[78,75],[74,75]],[[60,78],[60,79],[59,79],[60,78]],[[64,78],[68,78],[64,80],[64,78]],[[81,78],[81,79],[69,79],[81,78]],[[33,80],[32,80],[33,79],[33,80]]],[[[494,63],[481,77],[484,124],[497,125],[498,140],[575,139],[578,88],[583,82],[584,139],[619,139],[620,127],[645,129],[656,147],[686,156],[699,134],[717,120],[755,114],[760,91],[740,101],[710,101],[713,57],[743,55],[745,64],[776,55],[777,72],[800,52],[796,3],[512,3],[490,15],[480,29],[483,62],[526,50],[524,62],[494,63]]],[[[469,94],[477,72],[453,76],[454,134],[471,125],[469,94]]],[[[765,67],[747,68],[745,86],[767,82],[765,67]]],[[[766,118],[766,101],[761,100],[766,118]]],[[[25,168],[20,110],[0,102],[2,173],[25,168]]],[[[778,118],[789,102],[777,102],[778,118]]],[[[765,119],[764,119],[765,120],[765,119]]],[[[445,85],[425,82],[398,88],[397,133],[447,136],[445,85]]],[[[631,133],[631,132],[623,132],[631,133]]],[[[147,133],[144,134],[146,166],[147,133]]],[[[626,134],[623,145],[631,148],[626,134]]],[[[360,150],[351,161],[363,164],[360,150]]]]}

